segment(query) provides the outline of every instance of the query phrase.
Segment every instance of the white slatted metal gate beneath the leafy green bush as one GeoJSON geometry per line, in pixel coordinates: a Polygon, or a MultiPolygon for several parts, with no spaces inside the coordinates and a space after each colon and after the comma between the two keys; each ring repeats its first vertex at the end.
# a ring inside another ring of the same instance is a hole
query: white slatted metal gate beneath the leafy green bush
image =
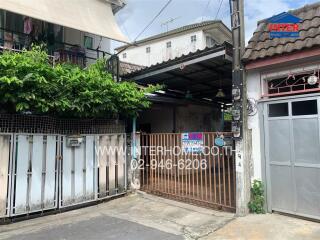
{"type": "Polygon", "coordinates": [[[0,134],[0,218],[65,208],[126,192],[126,135],[0,134]]]}

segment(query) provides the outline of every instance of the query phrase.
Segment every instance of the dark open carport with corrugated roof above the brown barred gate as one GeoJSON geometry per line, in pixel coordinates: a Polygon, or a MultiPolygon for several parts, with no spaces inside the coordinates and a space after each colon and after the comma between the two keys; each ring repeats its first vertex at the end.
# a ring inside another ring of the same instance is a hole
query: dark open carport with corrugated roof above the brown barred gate
{"type": "Polygon", "coordinates": [[[145,86],[165,86],[163,91],[149,96],[154,104],[140,114],[139,130],[148,133],[231,130],[221,114],[232,102],[232,46],[228,43],[140,69],[124,78],[145,86]]]}

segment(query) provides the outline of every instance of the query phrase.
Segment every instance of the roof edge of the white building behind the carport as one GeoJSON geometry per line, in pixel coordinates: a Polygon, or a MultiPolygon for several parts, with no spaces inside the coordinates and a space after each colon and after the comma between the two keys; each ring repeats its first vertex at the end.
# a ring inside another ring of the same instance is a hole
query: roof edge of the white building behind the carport
{"type": "MultiPolygon", "coordinates": [[[[189,31],[189,30],[192,30],[192,29],[207,27],[207,26],[210,26],[210,25],[221,25],[221,26],[225,27],[226,29],[228,29],[221,20],[204,21],[204,22],[200,22],[200,23],[194,23],[194,24],[186,25],[186,26],[183,26],[183,27],[180,27],[180,28],[177,28],[177,29],[173,29],[173,30],[168,31],[168,32],[160,33],[160,34],[157,34],[157,35],[154,35],[154,36],[139,40],[139,41],[135,42],[134,44],[138,45],[138,44],[141,44],[141,43],[149,42],[149,41],[156,40],[156,39],[159,39],[159,38],[164,38],[164,37],[167,37],[167,36],[171,36],[171,35],[174,35],[174,34],[177,34],[177,33],[189,31]]],[[[230,31],[230,30],[228,29],[228,31],[230,31]]],[[[231,37],[231,32],[230,32],[230,37],[231,37]]],[[[120,49],[122,49],[124,47],[127,47],[127,46],[128,45],[124,45],[124,46],[118,47],[118,48],[116,48],[116,50],[120,50],[120,49]]]]}

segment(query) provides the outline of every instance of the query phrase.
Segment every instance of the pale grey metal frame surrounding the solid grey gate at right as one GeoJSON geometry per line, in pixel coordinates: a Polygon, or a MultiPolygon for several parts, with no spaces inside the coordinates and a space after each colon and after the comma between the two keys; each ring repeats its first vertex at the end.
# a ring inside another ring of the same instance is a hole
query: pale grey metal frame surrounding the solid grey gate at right
{"type": "MultiPolygon", "coordinates": [[[[302,214],[298,212],[293,212],[293,211],[287,211],[287,210],[279,210],[279,209],[273,209],[272,207],[272,195],[271,195],[271,177],[270,177],[270,161],[269,161],[269,154],[268,154],[268,137],[269,137],[269,127],[268,127],[268,106],[269,104],[273,103],[288,103],[288,114],[289,116],[285,117],[285,119],[292,120],[292,106],[290,103],[292,102],[299,102],[299,101],[307,101],[307,100],[317,100],[317,110],[318,110],[318,123],[319,123],[319,137],[320,137],[320,93],[314,93],[314,94],[303,94],[303,95],[291,95],[291,96],[286,96],[286,97],[277,97],[277,98],[271,98],[271,99],[261,99],[258,101],[258,106],[261,106],[258,110],[259,116],[259,126],[260,127],[260,151],[261,151],[261,166],[262,166],[262,181],[265,183],[265,203],[267,207],[267,211],[272,213],[273,211],[275,212],[283,212],[287,213],[290,215],[295,215],[295,216],[300,216],[300,217],[305,217],[309,219],[316,219],[320,220],[320,217],[317,216],[312,216],[309,214],[302,214]]],[[[313,115],[310,115],[313,116],[313,115]]],[[[277,117],[277,119],[281,119],[281,117],[277,117]]],[[[297,119],[297,118],[294,118],[297,119]]],[[[291,126],[290,126],[290,135],[291,135],[291,126]]],[[[290,149],[291,151],[291,149],[290,149]]],[[[291,162],[291,160],[290,160],[291,162]]],[[[294,168],[295,166],[291,164],[291,168],[294,168]]],[[[302,166],[303,167],[303,166],[302,166]]],[[[292,172],[292,175],[294,177],[294,171],[292,172]]],[[[294,183],[294,188],[295,183],[294,183]]],[[[296,195],[296,190],[295,195],[296,195]]],[[[295,200],[296,201],[296,200],[295,200]]],[[[296,203],[295,207],[296,207],[296,203]]]]}

